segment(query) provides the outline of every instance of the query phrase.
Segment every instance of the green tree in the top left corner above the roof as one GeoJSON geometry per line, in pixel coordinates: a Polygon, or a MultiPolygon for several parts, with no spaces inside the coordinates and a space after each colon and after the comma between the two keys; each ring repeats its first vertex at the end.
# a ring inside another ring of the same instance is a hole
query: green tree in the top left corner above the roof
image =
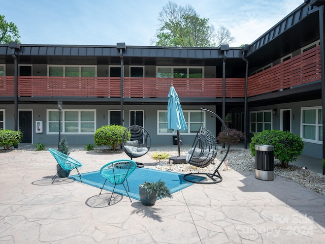
{"type": "Polygon", "coordinates": [[[5,16],[0,14],[0,44],[19,42],[19,32],[13,22],[7,22],[5,16]]]}

